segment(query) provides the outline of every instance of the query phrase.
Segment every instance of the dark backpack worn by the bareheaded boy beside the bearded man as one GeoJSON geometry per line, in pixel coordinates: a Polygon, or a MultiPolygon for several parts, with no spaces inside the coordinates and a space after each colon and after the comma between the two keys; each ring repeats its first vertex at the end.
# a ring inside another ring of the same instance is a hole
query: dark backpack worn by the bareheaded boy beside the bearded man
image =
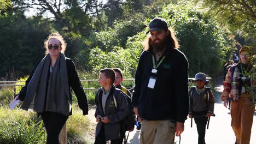
{"type": "Polygon", "coordinates": [[[114,96],[114,103],[115,103],[115,107],[117,107],[117,93],[121,92],[125,95],[125,99],[128,103],[128,107],[129,107],[129,113],[127,114],[127,116],[121,121],[121,127],[123,128],[123,130],[125,131],[130,131],[131,129],[134,128],[135,125],[135,112],[133,111],[133,106],[131,103],[131,97],[129,97],[129,95],[127,95],[126,93],[124,93],[123,91],[121,91],[120,89],[116,89],[117,91],[114,91],[113,96],[114,96]]]}

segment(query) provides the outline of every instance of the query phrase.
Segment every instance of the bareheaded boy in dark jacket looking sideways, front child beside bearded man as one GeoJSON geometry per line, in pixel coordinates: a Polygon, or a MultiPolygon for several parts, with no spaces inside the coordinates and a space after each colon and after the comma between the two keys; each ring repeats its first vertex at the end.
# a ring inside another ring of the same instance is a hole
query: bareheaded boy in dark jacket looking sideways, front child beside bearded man
{"type": "Polygon", "coordinates": [[[101,88],[95,96],[97,122],[95,144],[123,143],[125,131],[121,128],[121,121],[129,113],[129,106],[125,94],[113,85],[115,72],[113,69],[100,70],[98,83],[101,88]]]}

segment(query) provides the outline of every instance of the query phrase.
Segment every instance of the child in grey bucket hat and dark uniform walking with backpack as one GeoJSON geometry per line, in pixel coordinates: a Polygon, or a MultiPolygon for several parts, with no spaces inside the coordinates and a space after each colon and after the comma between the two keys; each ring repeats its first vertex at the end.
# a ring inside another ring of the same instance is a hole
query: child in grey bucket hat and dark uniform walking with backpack
{"type": "Polygon", "coordinates": [[[198,133],[198,144],[205,144],[205,129],[208,118],[213,115],[214,97],[210,87],[205,87],[209,83],[206,75],[197,73],[195,87],[189,91],[189,118],[194,118],[198,133]]]}

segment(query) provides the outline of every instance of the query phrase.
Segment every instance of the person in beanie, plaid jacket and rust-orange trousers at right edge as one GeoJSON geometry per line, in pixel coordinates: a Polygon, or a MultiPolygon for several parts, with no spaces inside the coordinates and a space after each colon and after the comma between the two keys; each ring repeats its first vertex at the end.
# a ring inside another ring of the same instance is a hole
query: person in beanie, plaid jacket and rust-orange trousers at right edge
{"type": "Polygon", "coordinates": [[[243,46],[239,57],[239,62],[230,67],[226,75],[222,100],[227,107],[228,98],[231,99],[231,126],[236,136],[235,143],[249,144],[255,108],[252,99],[255,89],[252,86],[256,84],[253,80],[252,51],[243,46]]]}

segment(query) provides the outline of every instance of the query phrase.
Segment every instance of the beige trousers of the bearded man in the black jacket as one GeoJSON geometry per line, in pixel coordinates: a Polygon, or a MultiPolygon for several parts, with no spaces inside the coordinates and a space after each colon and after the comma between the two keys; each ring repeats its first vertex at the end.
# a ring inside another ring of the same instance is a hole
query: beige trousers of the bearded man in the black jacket
{"type": "Polygon", "coordinates": [[[141,123],[140,144],[173,144],[176,123],[169,120],[147,121],[141,123]]]}

